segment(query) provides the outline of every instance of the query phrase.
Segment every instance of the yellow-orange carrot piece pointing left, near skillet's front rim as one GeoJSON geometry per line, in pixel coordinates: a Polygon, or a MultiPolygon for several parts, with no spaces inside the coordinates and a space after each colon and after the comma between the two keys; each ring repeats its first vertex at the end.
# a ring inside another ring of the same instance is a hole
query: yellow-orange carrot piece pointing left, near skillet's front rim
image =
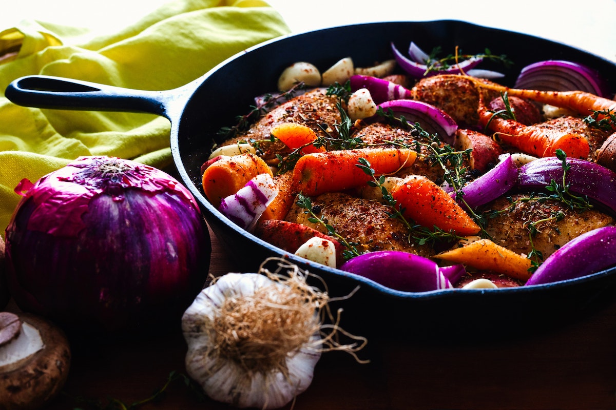
{"type": "Polygon", "coordinates": [[[435,258],[461,263],[480,270],[490,270],[521,280],[530,278],[530,259],[489,239],[475,240],[460,248],[435,255],[435,258]]]}

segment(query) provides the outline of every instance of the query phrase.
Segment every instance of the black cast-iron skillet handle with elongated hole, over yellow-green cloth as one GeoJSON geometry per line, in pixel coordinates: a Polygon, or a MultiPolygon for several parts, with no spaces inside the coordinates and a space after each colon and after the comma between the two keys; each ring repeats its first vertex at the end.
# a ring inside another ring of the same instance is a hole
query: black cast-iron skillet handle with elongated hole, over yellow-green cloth
{"type": "Polygon", "coordinates": [[[27,107],[149,112],[168,118],[169,104],[178,97],[174,90],[134,90],[52,76],[18,78],[8,85],[5,96],[27,107]]]}

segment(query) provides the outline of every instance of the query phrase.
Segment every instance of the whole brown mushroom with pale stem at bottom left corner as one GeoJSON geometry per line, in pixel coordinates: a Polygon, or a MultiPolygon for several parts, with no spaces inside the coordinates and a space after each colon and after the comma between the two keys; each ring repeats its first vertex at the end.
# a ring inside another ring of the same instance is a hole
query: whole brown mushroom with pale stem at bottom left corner
{"type": "Polygon", "coordinates": [[[0,409],[41,408],[67,380],[70,358],[57,326],[28,313],[0,312],[0,409]]]}

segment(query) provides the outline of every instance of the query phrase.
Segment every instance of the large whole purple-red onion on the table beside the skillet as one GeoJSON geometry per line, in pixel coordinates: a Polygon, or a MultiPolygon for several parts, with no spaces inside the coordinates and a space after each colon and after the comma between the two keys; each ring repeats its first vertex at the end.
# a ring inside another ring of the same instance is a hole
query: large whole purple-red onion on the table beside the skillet
{"type": "Polygon", "coordinates": [[[6,273],[20,309],[68,328],[144,328],[179,323],[203,288],[208,228],[163,171],[80,157],[15,191],[25,193],[6,229],[6,273]]]}

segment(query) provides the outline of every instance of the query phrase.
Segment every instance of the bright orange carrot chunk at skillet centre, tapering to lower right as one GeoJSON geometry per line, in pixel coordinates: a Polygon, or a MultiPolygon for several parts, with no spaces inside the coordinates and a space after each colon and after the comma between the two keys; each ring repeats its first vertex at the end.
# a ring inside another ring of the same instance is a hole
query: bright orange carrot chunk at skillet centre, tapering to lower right
{"type": "Polygon", "coordinates": [[[436,226],[457,235],[474,235],[481,229],[447,192],[423,175],[410,175],[391,190],[403,208],[402,215],[421,226],[436,226]]]}

